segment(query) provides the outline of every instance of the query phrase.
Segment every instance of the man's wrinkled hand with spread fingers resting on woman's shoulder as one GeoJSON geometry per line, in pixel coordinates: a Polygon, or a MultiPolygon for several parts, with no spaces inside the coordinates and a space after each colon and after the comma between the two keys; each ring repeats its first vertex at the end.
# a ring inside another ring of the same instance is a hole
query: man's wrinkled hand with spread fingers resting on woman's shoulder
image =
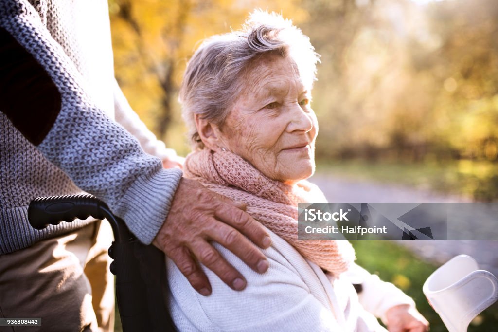
{"type": "Polygon", "coordinates": [[[266,257],[243,234],[261,248],[268,248],[271,240],[264,227],[245,209],[244,203],[206,189],[198,181],[182,178],[168,216],[152,243],[175,262],[200,294],[210,295],[211,285],[198,262],[232,289],[243,290],[246,287],[244,276],[210,241],[232,251],[254,271],[265,272],[268,269],[266,257]]]}

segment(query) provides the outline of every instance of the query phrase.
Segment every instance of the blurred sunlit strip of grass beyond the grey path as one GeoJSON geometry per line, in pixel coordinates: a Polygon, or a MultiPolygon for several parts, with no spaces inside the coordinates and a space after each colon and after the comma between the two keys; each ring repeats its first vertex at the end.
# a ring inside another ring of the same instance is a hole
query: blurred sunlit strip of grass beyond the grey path
{"type": "Polygon", "coordinates": [[[498,164],[489,161],[425,161],[406,163],[366,160],[319,160],[317,173],[379,183],[395,183],[418,189],[496,201],[498,198],[498,164]]]}

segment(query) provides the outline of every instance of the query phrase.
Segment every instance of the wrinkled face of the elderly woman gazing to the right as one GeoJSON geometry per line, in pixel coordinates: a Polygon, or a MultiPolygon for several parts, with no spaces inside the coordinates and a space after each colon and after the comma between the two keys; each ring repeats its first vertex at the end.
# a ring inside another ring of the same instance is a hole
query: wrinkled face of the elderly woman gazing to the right
{"type": "Polygon", "coordinates": [[[244,88],[217,133],[223,147],[269,178],[292,184],[315,170],[318,123],[311,91],[290,57],[257,60],[244,88]]]}

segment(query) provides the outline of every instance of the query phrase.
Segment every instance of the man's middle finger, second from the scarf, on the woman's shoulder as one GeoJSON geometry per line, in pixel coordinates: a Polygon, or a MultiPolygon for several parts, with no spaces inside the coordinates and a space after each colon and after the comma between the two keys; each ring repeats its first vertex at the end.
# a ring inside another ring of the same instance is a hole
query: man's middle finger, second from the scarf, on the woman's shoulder
{"type": "Polygon", "coordinates": [[[259,273],[268,270],[269,263],[266,257],[235,228],[217,222],[208,236],[237,255],[252,270],[259,273]]]}

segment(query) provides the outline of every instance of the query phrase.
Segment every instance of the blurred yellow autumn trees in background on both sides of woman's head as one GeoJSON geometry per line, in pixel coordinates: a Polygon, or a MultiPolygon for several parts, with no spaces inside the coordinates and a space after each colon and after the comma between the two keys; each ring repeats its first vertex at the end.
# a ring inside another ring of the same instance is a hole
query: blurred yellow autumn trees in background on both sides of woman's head
{"type": "Polygon", "coordinates": [[[257,7],[293,19],[322,55],[318,158],[485,160],[462,164],[465,190],[498,195],[496,0],[110,0],[116,76],[160,139],[188,153],[176,102],[186,62],[257,7]]]}

